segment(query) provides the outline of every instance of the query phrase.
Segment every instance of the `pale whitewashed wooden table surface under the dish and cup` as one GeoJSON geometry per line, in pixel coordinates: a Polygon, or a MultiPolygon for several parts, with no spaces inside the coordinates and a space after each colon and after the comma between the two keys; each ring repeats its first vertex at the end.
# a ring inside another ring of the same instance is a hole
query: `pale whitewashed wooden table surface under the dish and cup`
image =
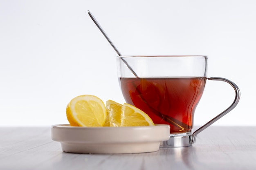
{"type": "Polygon", "coordinates": [[[50,127],[1,127],[0,170],[256,170],[256,126],[211,126],[196,144],[139,154],[72,154],[50,127]]]}

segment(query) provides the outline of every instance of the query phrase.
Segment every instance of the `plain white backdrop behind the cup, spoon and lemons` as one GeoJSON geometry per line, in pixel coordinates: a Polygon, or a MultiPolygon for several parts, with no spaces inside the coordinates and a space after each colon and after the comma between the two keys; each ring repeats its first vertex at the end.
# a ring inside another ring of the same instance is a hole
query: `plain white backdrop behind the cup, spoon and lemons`
{"type": "MultiPolygon", "coordinates": [[[[116,53],[208,55],[208,76],[241,91],[214,125],[255,126],[254,0],[0,0],[0,126],[68,123],[67,103],[91,94],[124,103],[116,53]]],[[[202,125],[229,106],[234,90],[208,81],[195,113],[202,125]]]]}

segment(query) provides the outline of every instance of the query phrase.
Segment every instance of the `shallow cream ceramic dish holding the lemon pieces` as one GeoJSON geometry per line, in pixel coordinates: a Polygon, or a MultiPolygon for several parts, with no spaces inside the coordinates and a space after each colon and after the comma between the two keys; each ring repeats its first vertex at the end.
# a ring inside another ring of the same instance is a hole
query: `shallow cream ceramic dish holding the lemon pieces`
{"type": "Polygon", "coordinates": [[[75,127],[53,125],[52,139],[61,142],[63,152],[121,154],[155,152],[170,137],[170,126],[75,127]]]}

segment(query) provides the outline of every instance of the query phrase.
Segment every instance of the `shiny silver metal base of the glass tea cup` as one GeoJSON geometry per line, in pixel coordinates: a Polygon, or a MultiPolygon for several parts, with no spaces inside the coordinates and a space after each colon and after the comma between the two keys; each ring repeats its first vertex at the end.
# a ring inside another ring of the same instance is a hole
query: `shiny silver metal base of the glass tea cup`
{"type": "Polygon", "coordinates": [[[168,139],[167,141],[163,141],[162,144],[160,145],[160,148],[192,146],[191,138],[191,132],[170,134],[170,139],[168,139]]]}

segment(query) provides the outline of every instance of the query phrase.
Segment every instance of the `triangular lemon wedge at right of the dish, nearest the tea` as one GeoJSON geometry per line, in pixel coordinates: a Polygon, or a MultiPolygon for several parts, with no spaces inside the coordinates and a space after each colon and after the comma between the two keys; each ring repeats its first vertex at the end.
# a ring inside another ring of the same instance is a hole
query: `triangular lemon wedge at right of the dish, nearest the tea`
{"type": "Polygon", "coordinates": [[[121,108],[121,126],[154,126],[152,119],[139,108],[125,103],[121,108]]]}

